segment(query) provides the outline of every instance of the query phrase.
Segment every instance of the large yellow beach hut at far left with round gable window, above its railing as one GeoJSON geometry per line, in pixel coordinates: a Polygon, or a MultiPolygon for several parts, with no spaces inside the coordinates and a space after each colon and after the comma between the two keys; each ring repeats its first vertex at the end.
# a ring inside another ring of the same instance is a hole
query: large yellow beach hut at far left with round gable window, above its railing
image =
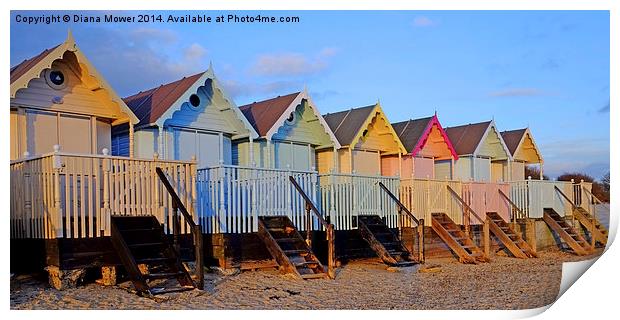
{"type": "MultiPolygon", "coordinates": [[[[110,149],[113,125],[138,119],[67,39],[11,68],[11,160],[54,151],[96,154],[110,149]]],[[[127,155],[131,153],[127,145],[127,155]]]]}

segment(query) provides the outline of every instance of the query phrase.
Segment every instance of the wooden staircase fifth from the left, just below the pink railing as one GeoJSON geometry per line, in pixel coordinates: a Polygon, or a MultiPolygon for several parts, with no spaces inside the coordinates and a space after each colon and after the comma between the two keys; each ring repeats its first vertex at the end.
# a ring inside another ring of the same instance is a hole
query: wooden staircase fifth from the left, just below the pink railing
{"type": "Polygon", "coordinates": [[[513,256],[521,259],[538,257],[532,247],[497,212],[487,212],[487,219],[491,232],[513,256]]]}

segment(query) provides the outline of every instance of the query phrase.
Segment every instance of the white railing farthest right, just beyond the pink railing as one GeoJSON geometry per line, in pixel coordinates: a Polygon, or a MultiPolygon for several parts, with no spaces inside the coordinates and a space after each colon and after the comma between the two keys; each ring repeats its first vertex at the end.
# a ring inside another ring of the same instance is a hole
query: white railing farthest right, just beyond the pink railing
{"type": "Polygon", "coordinates": [[[571,205],[555,187],[574,200],[572,182],[533,179],[510,182],[510,198],[528,218],[542,218],[545,208],[552,208],[561,216],[571,215],[571,205]]]}

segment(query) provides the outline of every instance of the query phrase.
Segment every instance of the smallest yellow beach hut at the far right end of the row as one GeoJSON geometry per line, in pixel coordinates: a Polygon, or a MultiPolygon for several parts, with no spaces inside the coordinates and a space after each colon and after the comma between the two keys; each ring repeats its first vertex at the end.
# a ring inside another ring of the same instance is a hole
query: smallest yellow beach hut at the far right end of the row
{"type": "Polygon", "coordinates": [[[525,180],[525,167],[538,164],[540,179],[543,176],[543,158],[534,142],[530,128],[502,131],[502,138],[510,151],[512,161],[505,163],[504,176],[509,181],[525,180]]]}

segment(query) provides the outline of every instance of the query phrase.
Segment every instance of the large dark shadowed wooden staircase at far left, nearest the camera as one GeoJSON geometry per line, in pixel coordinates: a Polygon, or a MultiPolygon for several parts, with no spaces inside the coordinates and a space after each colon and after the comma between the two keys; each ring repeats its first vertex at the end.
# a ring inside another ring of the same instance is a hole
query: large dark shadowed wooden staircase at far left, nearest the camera
{"type": "Polygon", "coordinates": [[[111,240],[138,294],[152,296],[196,288],[156,217],[112,216],[111,240]],[[148,273],[140,270],[141,264],[147,266],[148,273]],[[168,287],[164,281],[165,286],[152,286],[160,279],[176,279],[178,285],[168,287]]]}

